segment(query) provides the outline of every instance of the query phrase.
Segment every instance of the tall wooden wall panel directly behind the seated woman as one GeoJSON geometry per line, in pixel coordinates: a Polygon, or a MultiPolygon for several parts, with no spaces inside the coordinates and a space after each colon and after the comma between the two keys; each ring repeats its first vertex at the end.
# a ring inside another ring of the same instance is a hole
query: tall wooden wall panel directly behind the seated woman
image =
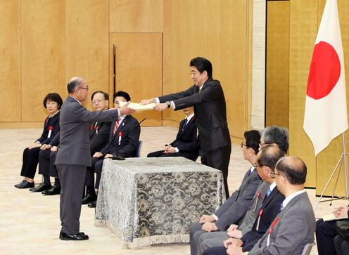
{"type": "Polygon", "coordinates": [[[42,100],[58,92],[64,98],[63,1],[22,1],[22,121],[42,121],[42,100]]]}

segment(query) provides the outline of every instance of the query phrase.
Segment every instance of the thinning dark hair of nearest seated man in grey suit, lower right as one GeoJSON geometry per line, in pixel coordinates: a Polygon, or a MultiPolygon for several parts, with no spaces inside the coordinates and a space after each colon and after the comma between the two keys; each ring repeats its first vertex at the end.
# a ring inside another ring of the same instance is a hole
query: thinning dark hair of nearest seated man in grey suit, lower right
{"type": "Polygon", "coordinates": [[[302,185],[307,178],[307,166],[299,157],[283,157],[276,166],[279,174],[292,185],[302,185]]]}

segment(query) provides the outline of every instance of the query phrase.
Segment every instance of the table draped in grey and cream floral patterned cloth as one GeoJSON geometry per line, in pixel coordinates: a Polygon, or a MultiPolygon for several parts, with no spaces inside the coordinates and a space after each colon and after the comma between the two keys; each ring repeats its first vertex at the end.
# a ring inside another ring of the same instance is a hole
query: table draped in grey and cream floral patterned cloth
{"type": "Polygon", "coordinates": [[[189,242],[189,227],[225,200],[222,172],[184,157],[105,159],[95,225],[125,247],[189,242]]]}

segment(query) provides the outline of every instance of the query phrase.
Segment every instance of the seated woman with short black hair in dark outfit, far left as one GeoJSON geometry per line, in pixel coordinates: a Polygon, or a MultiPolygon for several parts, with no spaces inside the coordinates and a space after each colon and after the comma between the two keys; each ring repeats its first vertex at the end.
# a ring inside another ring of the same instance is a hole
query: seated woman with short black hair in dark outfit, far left
{"type": "MultiPolygon", "coordinates": [[[[15,185],[15,188],[33,188],[34,187],[34,176],[37,170],[37,164],[39,162],[39,152],[40,148],[49,144],[56,133],[59,131],[59,110],[63,100],[58,93],[49,93],[44,98],[44,107],[49,113],[49,117],[45,119],[44,131],[42,131],[42,136],[37,139],[32,145],[29,145],[23,151],[23,164],[22,170],[20,171],[20,176],[24,176],[23,181],[15,185]]],[[[47,185],[43,183],[39,185],[39,189],[44,190],[47,185]]],[[[51,184],[49,185],[51,186],[51,184]]],[[[36,190],[37,191],[37,190],[36,190]]]]}

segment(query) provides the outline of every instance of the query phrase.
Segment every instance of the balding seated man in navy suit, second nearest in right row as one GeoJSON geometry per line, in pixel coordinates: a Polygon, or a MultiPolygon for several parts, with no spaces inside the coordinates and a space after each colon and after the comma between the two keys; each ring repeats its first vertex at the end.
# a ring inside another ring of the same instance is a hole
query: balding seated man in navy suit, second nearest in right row
{"type": "Polygon", "coordinates": [[[253,228],[240,239],[229,238],[228,240],[222,242],[219,247],[217,246],[210,249],[207,249],[207,247],[210,246],[205,247],[205,241],[208,242],[210,240],[204,240],[205,236],[203,235],[201,237],[203,240],[199,240],[199,247],[201,248],[201,252],[199,254],[202,254],[202,251],[204,251],[203,254],[227,254],[226,247],[229,245],[243,247],[243,252],[250,251],[255,243],[258,242],[260,237],[264,235],[267,228],[269,228],[269,225],[272,224],[274,218],[277,216],[277,214],[279,214],[281,203],[285,198],[284,195],[282,195],[276,188],[275,180],[271,175],[271,173],[274,172],[277,161],[281,157],[284,157],[284,152],[277,146],[269,145],[261,148],[260,152],[258,152],[255,168],[257,169],[260,178],[269,183],[270,187],[267,190],[267,194],[265,195],[265,199],[260,205],[260,208],[258,208],[259,213],[258,217],[255,219],[255,222],[253,223],[253,228]]]}

